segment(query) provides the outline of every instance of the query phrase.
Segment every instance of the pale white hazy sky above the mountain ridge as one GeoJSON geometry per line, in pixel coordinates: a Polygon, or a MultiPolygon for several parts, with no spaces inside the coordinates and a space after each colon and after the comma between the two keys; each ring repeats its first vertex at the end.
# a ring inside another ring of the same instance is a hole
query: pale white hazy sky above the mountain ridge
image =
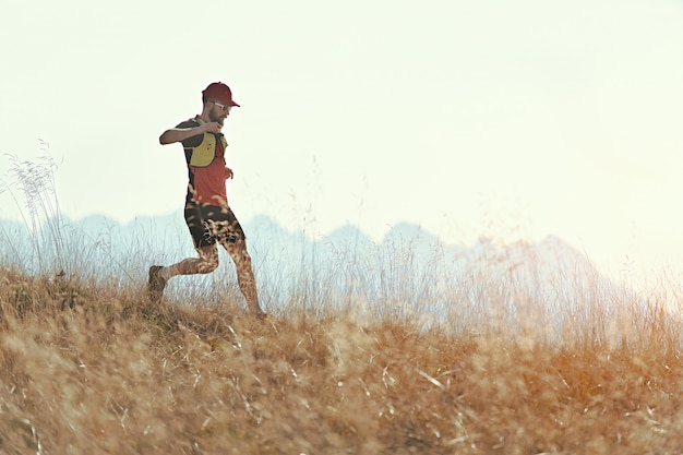
{"type": "Polygon", "coordinates": [[[182,148],[157,139],[223,81],[243,223],[683,264],[682,45],[680,0],[16,1],[0,153],[47,141],[72,217],[180,212],[182,148]]]}

